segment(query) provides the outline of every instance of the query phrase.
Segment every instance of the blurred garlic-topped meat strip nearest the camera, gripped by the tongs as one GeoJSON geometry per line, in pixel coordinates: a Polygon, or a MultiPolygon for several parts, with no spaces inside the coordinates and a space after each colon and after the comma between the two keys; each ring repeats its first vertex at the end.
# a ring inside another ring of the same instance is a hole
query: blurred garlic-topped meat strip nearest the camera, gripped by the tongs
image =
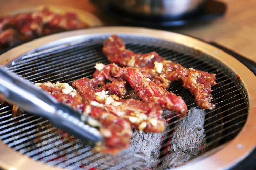
{"type": "MultiPolygon", "coordinates": [[[[79,112],[90,115],[103,125],[103,127],[99,127],[99,131],[104,136],[104,140],[102,143],[96,144],[95,151],[115,154],[130,145],[132,135],[130,123],[101,107],[91,105],[90,99],[86,99],[84,102],[84,98],[68,83],[37,83],[37,86],[49,92],[59,102],[66,103],[79,112]]],[[[88,94],[91,95],[88,97],[95,97],[94,93],[89,91],[88,94]]],[[[94,122],[88,123],[94,124],[94,122]]]]}

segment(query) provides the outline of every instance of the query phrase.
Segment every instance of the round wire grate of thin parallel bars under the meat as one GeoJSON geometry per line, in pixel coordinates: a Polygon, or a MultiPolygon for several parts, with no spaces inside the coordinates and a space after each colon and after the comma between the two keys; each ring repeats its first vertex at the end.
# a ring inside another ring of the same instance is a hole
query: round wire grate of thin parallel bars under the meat
{"type": "MultiPolygon", "coordinates": [[[[199,69],[216,74],[216,86],[213,86],[214,110],[200,110],[192,95],[174,82],[169,91],[182,96],[192,115],[202,113],[194,119],[202,119],[206,144],[202,146],[203,154],[232,140],[243,128],[248,114],[248,101],[243,86],[236,75],[217,60],[198,50],[181,44],[160,39],[139,36],[121,36],[126,48],[138,53],[156,51],[166,60],[180,63],[184,67],[199,69]]],[[[107,64],[109,61],[102,53],[102,46],[107,36],[91,39],[72,40],[68,43],[42,46],[10,61],[6,67],[31,82],[68,82],[72,83],[82,77],[92,77],[96,63],[107,64]]],[[[136,97],[133,91],[126,98],[136,97]]],[[[49,165],[67,169],[145,169],[148,162],[145,153],[123,150],[116,156],[96,154],[91,146],[80,140],[66,137],[59,129],[53,127],[44,118],[27,113],[12,115],[12,106],[0,105],[0,139],[8,147],[46,162],[49,165]]],[[[160,155],[157,163],[165,160],[172,144],[174,131],[181,126],[174,113],[164,111],[167,122],[166,131],[155,135],[158,140],[160,155]]],[[[191,115],[191,116],[192,116],[191,115]]],[[[190,120],[191,121],[191,120],[190,120]]],[[[151,151],[154,154],[153,151],[151,151]]],[[[149,154],[149,155],[150,155],[149,154]]]]}

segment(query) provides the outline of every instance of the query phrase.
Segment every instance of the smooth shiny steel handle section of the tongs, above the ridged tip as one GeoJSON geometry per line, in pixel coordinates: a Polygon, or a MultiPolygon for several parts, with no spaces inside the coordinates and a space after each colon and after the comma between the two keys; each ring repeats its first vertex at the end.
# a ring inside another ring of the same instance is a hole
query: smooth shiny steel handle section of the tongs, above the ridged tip
{"type": "Polygon", "coordinates": [[[0,79],[0,92],[21,109],[44,117],[55,111],[53,105],[57,103],[51,97],[14,73],[1,67],[0,79]]]}

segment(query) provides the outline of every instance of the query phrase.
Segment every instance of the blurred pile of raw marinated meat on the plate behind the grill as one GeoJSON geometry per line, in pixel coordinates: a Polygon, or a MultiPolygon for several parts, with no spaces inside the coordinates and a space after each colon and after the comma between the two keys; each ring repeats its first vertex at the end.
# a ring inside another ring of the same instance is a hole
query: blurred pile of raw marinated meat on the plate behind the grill
{"type": "Polygon", "coordinates": [[[43,7],[31,13],[0,18],[0,48],[50,33],[88,27],[74,12],[57,14],[43,7]]]}

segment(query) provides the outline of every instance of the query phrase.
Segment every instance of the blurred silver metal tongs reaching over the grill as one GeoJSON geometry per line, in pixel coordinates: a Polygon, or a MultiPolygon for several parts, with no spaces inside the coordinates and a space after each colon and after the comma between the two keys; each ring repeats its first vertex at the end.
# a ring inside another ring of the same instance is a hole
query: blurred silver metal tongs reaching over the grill
{"type": "Polygon", "coordinates": [[[0,66],[0,95],[24,111],[47,118],[53,125],[83,141],[102,140],[98,129],[85,124],[88,116],[59,103],[44,90],[0,66]]]}

